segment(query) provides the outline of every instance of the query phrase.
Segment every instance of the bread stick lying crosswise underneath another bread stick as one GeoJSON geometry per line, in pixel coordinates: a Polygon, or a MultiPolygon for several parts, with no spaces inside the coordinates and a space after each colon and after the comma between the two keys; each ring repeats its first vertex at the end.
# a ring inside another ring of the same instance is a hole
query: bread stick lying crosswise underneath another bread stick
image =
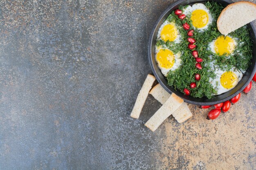
{"type": "MultiPolygon", "coordinates": [[[[166,100],[171,96],[160,84],[155,85],[149,94],[153,95],[153,97],[157,99],[161,104],[164,104],[166,100]]],[[[179,123],[183,123],[193,116],[186,103],[182,103],[182,105],[177,110],[175,110],[172,115],[179,123]]]]}

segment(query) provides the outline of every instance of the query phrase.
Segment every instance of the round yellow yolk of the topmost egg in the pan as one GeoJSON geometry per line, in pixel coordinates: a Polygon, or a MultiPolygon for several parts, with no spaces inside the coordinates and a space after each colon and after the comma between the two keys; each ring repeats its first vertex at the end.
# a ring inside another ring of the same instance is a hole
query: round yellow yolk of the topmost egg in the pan
{"type": "Polygon", "coordinates": [[[202,28],[207,25],[209,16],[206,11],[202,9],[196,9],[191,13],[191,20],[195,28],[202,28]]]}

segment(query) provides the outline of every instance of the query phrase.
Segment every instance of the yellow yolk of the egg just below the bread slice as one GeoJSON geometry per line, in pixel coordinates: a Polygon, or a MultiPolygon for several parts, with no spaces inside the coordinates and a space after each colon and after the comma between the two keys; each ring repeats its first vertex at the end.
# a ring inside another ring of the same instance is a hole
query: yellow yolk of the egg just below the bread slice
{"type": "Polygon", "coordinates": [[[234,40],[228,36],[220,36],[217,38],[217,40],[215,40],[214,50],[218,55],[223,55],[224,53],[228,55],[232,53],[234,48],[234,40]]]}

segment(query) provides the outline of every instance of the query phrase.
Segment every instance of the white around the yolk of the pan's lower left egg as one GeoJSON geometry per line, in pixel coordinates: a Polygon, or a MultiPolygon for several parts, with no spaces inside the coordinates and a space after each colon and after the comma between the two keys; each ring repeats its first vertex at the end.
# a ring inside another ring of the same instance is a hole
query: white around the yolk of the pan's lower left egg
{"type": "MultiPolygon", "coordinates": [[[[161,49],[164,49],[163,47],[161,47],[161,46],[159,46],[159,47],[156,47],[155,48],[155,60],[157,61],[157,53],[161,50],[161,49]]],[[[175,57],[175,62],[174,62],[174,64],[173,64],[173,66],[172,66],[172,68],[163,68],[163,67],[161,67],[160,66],[160,64],[159,64],[159,62],[157,61],[157,64],[158,64],[158,67],[160,68],[160,70],[161,70],[161,72],[163,73],[163,75],[166,77],[167,76],[167,74],[168,74],[168,72],[169,71],[175,71],[177,68],[179,68],[179,66],[181,65],[181,62],[182,62],[182,60],[181,60],[181,58],[180,58],[180,56],[181,56],[181,53],[173,53],[173,55],[174,55],[174,57],[175,57]]]]}

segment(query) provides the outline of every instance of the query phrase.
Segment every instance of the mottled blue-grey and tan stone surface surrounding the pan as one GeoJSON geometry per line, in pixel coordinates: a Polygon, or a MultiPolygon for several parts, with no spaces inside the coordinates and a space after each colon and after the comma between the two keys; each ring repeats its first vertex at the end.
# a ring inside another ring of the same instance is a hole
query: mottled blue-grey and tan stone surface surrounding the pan
{"type": "Polygon", "coordinates": [[[255,170],[256,83],[215,121],[130,118],[171,2],[0,1],[0,170],[255,170]]]}

